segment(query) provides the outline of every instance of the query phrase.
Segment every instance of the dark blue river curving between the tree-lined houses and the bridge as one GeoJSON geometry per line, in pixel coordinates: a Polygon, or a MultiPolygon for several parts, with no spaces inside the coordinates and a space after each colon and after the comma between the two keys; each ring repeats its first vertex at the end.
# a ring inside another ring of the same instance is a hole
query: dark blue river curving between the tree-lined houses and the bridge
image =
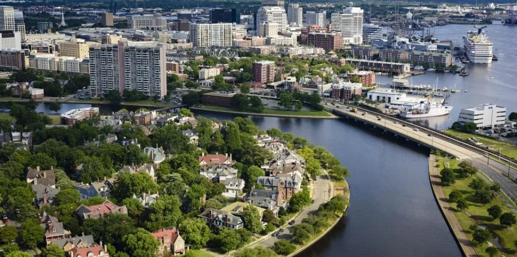
{"type": "Polygon", "coordinates": [[[250,118],[262,130],[278,127],[325,147],[350,170],[346,217],[298,256],[461,256],[433,197],[426,150],[343,120],[250,118]]]}

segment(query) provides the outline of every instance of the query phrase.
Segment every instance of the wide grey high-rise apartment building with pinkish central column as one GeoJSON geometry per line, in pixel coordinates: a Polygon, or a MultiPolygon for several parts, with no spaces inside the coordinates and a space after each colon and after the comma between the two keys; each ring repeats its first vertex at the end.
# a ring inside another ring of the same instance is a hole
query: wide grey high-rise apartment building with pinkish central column
{"type": "Polygon", "coordinates": [[[97,97],[110,90],[137,90],[149,97],[166,94],[163,46],[128,46],[127,41],[90,47],[90,91],[97,97]]]}

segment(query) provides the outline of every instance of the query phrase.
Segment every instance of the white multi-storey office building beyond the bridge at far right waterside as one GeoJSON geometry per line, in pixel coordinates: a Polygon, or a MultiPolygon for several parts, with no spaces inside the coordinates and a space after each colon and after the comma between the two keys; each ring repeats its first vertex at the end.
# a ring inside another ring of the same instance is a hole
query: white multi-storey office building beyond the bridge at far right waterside
{"type": "Polygon", "coordinates": [[[464,108],[460,111],[458,121],[465,125],[467,122],[476,123],[476,127],[503,126],[506,119],[506,107],[495,104],[482,104],[477,107],[464,108]]]}

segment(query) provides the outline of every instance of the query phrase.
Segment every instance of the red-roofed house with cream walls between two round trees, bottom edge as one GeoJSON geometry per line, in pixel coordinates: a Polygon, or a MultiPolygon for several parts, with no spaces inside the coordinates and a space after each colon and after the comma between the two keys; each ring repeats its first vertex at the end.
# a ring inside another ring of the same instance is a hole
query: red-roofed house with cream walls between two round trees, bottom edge
{"type": "Polygon", "coordinates": [[[160,229],[153,233],[153,236],[160,242],[158,256],[181,255],[185,250],[189,249],[189,245],[185,244],[183,237],[179,235],[176,228],[160,229]]]}

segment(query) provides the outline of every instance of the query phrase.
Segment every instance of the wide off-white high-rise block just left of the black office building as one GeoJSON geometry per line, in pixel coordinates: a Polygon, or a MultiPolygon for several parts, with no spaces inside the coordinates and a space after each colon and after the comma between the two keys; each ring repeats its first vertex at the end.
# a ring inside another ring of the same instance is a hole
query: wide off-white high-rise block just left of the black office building
{"type": "Polygon", "coordinates": [[[232,23],[191,23],[190,42],[192,46],[197,47],[231,47],[233,45],[232,23]]]}

